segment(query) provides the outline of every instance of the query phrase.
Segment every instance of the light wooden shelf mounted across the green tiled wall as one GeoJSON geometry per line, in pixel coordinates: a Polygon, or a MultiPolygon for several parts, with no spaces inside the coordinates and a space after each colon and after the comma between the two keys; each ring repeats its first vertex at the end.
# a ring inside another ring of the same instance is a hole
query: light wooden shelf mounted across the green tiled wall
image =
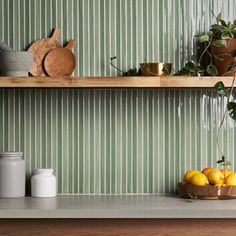
{"type": "Polygon", "coordinates": [[[1,88],[213,88],[232,77],[0,77],[1,88]]]}

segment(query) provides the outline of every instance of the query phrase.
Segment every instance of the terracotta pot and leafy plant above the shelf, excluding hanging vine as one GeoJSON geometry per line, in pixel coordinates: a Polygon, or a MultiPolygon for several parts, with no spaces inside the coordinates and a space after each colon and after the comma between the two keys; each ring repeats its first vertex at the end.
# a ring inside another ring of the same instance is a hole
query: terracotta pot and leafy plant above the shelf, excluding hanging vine
{"type": "Polygon", "coordinates": [[[233,76],[236,67],[236,20],[226,23],[222,14],[215,16],[208,34],[197,35],[199,44],[204,45],[196,64],[187,62],[175,75],[225,75],[233,76]],[[209,63],[204,65],[208,59],[209,63]]]}

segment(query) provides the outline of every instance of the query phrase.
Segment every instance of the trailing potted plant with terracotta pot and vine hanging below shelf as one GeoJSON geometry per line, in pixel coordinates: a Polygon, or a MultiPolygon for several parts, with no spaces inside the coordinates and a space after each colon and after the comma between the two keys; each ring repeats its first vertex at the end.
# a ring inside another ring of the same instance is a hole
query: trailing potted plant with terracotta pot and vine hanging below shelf
{"type": "Polygon", "coordinates": [[[205,44],[197,64],[187,62],[175,75],[197,76],[204,74],[211,76],[233,76],[230,88],[225,88],[222,81],[215,85],[218,94],[227,98],[227,107],[222,117],[220,130],[227,114],[236,120],[236,103],[231,101],[236,77],[236,20],[233,23],[228,22],[226,24],[222,19],[221,13],[215,16],[215,18],[216,24],[211,25],[210,34],[196,36],[199,43],[205,44]],[[208,56],[209,64],[203,67],[202,61],[206,55],[208,56]]]}

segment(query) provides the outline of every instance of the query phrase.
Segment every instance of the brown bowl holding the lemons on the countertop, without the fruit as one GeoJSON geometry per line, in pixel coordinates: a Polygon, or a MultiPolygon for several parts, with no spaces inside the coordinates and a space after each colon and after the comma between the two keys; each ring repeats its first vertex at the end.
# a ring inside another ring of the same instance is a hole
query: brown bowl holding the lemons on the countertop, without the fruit
{"type": "Polygon", "coordinates": [[[178,193],[184,198],[190,198],[194,194],[200,199],[233,199],[236,198],[236,186],[195,186],[179,183],[178,193]]]}

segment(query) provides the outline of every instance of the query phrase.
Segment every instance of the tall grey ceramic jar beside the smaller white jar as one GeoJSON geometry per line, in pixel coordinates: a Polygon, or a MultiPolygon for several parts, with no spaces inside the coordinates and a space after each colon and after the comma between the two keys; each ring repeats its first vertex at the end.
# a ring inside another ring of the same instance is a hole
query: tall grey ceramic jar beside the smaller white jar
{"type": "Polygon", "coordinates": [[[25,161],[22,152],[0,153],[0,197],[25,196],[25,161]]]}

